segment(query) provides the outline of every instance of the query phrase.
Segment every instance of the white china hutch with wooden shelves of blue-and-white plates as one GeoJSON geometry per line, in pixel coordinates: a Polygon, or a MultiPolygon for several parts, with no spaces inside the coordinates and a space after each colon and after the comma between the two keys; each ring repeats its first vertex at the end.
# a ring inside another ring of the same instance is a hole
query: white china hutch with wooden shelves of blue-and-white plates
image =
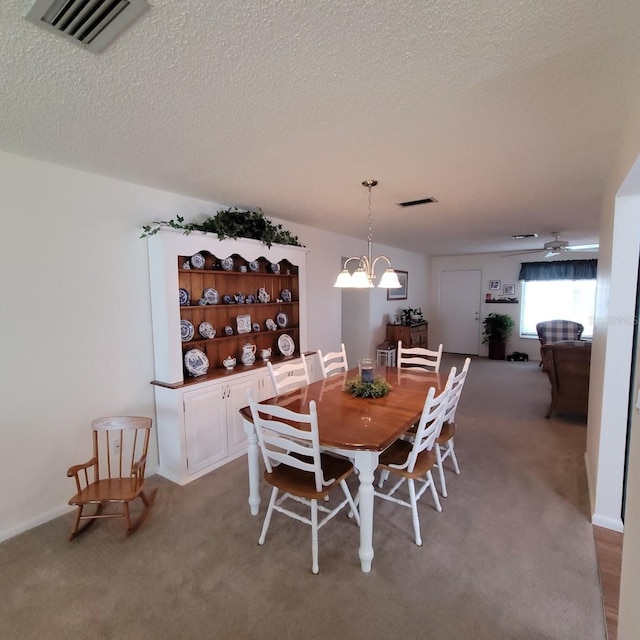
{"type": "Polygon", "coordinates": [[[247,451],[247,391],[273,395],[261,352],[275,363],[306,351],[307,250],[170,228],[148,248],[159,473],[184,485],[247,451]],[[247,344],[255,362],[243,364],[247,344]]]}

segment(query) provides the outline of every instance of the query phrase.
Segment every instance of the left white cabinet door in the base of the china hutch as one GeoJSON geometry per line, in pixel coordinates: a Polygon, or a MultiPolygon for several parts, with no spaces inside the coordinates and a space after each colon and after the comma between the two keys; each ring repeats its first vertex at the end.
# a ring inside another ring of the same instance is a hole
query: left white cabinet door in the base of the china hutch
{"type": "Polygon", "coordinates": [[[227,385],[219,384],[184,394],[187,473],[200,471],[227,456],[227,385]]]}

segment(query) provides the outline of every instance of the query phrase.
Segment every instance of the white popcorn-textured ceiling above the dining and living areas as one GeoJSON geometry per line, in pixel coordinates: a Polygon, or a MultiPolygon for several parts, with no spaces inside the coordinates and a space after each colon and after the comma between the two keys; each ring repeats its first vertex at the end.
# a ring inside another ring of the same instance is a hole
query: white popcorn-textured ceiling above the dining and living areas
{"type": "Polygon", "coordinates": [[[363,239],[375,178],[432,255],[597,239],[637,0],[149,1],[96,55],[2,0],[0,148],[363,239]]]}

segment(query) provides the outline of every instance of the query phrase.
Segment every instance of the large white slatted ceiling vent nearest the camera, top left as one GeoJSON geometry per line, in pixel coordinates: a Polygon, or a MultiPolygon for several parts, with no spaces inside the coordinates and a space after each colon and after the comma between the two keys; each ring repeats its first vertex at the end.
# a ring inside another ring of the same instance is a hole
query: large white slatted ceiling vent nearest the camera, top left
{"type": "Polygon", "coordinates": [[[26,18],[99,53],[148,8],[146,0],[37,0],[26,18]]]}

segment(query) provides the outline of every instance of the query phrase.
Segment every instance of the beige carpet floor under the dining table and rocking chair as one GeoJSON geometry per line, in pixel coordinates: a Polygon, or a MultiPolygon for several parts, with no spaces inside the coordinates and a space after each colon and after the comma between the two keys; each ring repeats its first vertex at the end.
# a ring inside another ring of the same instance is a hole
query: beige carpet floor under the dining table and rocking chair
{"type": "Polygon", "coordinates": [[[110,520],[69,543],[70,510],[0,544],[0,638],[602,640],[586,428],[545,420],[548,401],[537,363],[474,359],[462,474],[448,473],[442,513],[423,496],[421,548],[409,510],[376,502],[370,574],[346,517],[320,531],[319,575],[290,518],[275,514],[259,547],[244,458],[186,487],[152,478],[156,503],[129,539],[110,520]]]}

